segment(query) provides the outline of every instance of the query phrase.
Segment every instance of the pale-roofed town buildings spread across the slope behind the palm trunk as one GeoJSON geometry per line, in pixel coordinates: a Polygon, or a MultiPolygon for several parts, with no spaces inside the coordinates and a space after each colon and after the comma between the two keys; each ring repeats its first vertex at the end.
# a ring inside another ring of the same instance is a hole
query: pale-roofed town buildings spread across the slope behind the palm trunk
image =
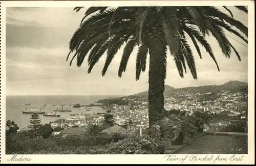
{"type": "MultiPolygon", "coordinates": [[[[127,130],[137,131],[140,128],[148,127],[148,108],[147,98],[130,96],[114,98],[115,101],[124,101],[126,104],[106,104],[101,106],[103,109],[110,109],[115,118],[115,124],[124,125],[128,121],[132,123],[127,130]]],[[[110,99],[111,100],[111,99],[110,99]]],[[[221,91],[220,93],[195,93],[173,95],[165,97],[165,109],[179,109],[188,115],[194,112],[208,112],[212,114],[227,113],[229,117],[240,116],[245,119],[245,110],[247,109],[247,95],[243,92],[230,93],[221,91]]],[[[119,102],[117,102],[119,103],[119,102]]],[[[51,126],[70,128],[83,127],[89,124],[100,124],[103,121],[104,113],[81,114],[69,119],[58,119],[51,123],[51,126]]]]}

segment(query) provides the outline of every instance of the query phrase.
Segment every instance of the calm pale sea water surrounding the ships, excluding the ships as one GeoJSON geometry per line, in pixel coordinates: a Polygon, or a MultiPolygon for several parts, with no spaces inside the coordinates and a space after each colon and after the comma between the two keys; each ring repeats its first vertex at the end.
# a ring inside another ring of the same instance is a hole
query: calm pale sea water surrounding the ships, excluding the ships
{"type": "Polygon", "coordinates": [[[44,117],[39,115],[41,124],[46,124],[56,119],[70,118],[70,114],[95,114],[104,113],[105,110],[101,107],[92,107],[90,111],[86,111],[85,107],[73,108],[71,104],[86,105],[95,103],[100,99],[118,96],[6,96],[6,121],[14,121],[19,128],[28,127],[31,114],[23,114],[22,111],[31,108],[41,109],[44,112],[50,113],[54,109],[60,109],[63,105],[63,109],[70,109],[72,112],[56,112],[60,114],[60,117],[44,117]]]}

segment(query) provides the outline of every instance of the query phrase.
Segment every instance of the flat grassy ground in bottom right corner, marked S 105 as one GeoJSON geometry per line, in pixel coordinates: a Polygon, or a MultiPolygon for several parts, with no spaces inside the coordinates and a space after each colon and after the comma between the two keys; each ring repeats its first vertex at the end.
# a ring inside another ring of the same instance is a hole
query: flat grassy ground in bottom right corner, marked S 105
{"type": "Polygon", "coordinates": [[[177,154],[247,154],[247,137],[205,135],[177,154]]]}

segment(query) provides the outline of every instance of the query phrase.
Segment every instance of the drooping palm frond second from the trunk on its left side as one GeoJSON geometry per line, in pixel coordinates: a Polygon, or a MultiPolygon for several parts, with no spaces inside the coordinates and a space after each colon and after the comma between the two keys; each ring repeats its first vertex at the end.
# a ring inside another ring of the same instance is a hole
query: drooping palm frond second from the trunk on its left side
{"type": "Polygon", "coordinates": [[[127,62],[130,58],[130,55],[137,43],[136,41],[136,37],[132,36],[130,38],[130,40],[126,43],[124,49],[123,49],[123,54],[122,54],[122,59],[120,62],[120,66],[119,66],[119,70],[118,70],[118,76],[121,77],[122,76],[122,72],[125,72],[126,66],[127,66],[127,62]]]}

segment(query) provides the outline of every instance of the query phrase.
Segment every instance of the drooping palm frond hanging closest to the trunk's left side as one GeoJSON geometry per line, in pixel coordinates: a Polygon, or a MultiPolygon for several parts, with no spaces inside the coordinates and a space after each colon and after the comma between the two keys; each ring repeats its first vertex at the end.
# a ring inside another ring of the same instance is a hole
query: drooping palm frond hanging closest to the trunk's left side
{"type": "Polygon", "coordinates": [[[146,69],[147,52],[148,52],[147,45],[142,43],[138,48],[138,53],[136,58],[136,80],[140,79],[141,71],[144,72],[146,69]]]}

